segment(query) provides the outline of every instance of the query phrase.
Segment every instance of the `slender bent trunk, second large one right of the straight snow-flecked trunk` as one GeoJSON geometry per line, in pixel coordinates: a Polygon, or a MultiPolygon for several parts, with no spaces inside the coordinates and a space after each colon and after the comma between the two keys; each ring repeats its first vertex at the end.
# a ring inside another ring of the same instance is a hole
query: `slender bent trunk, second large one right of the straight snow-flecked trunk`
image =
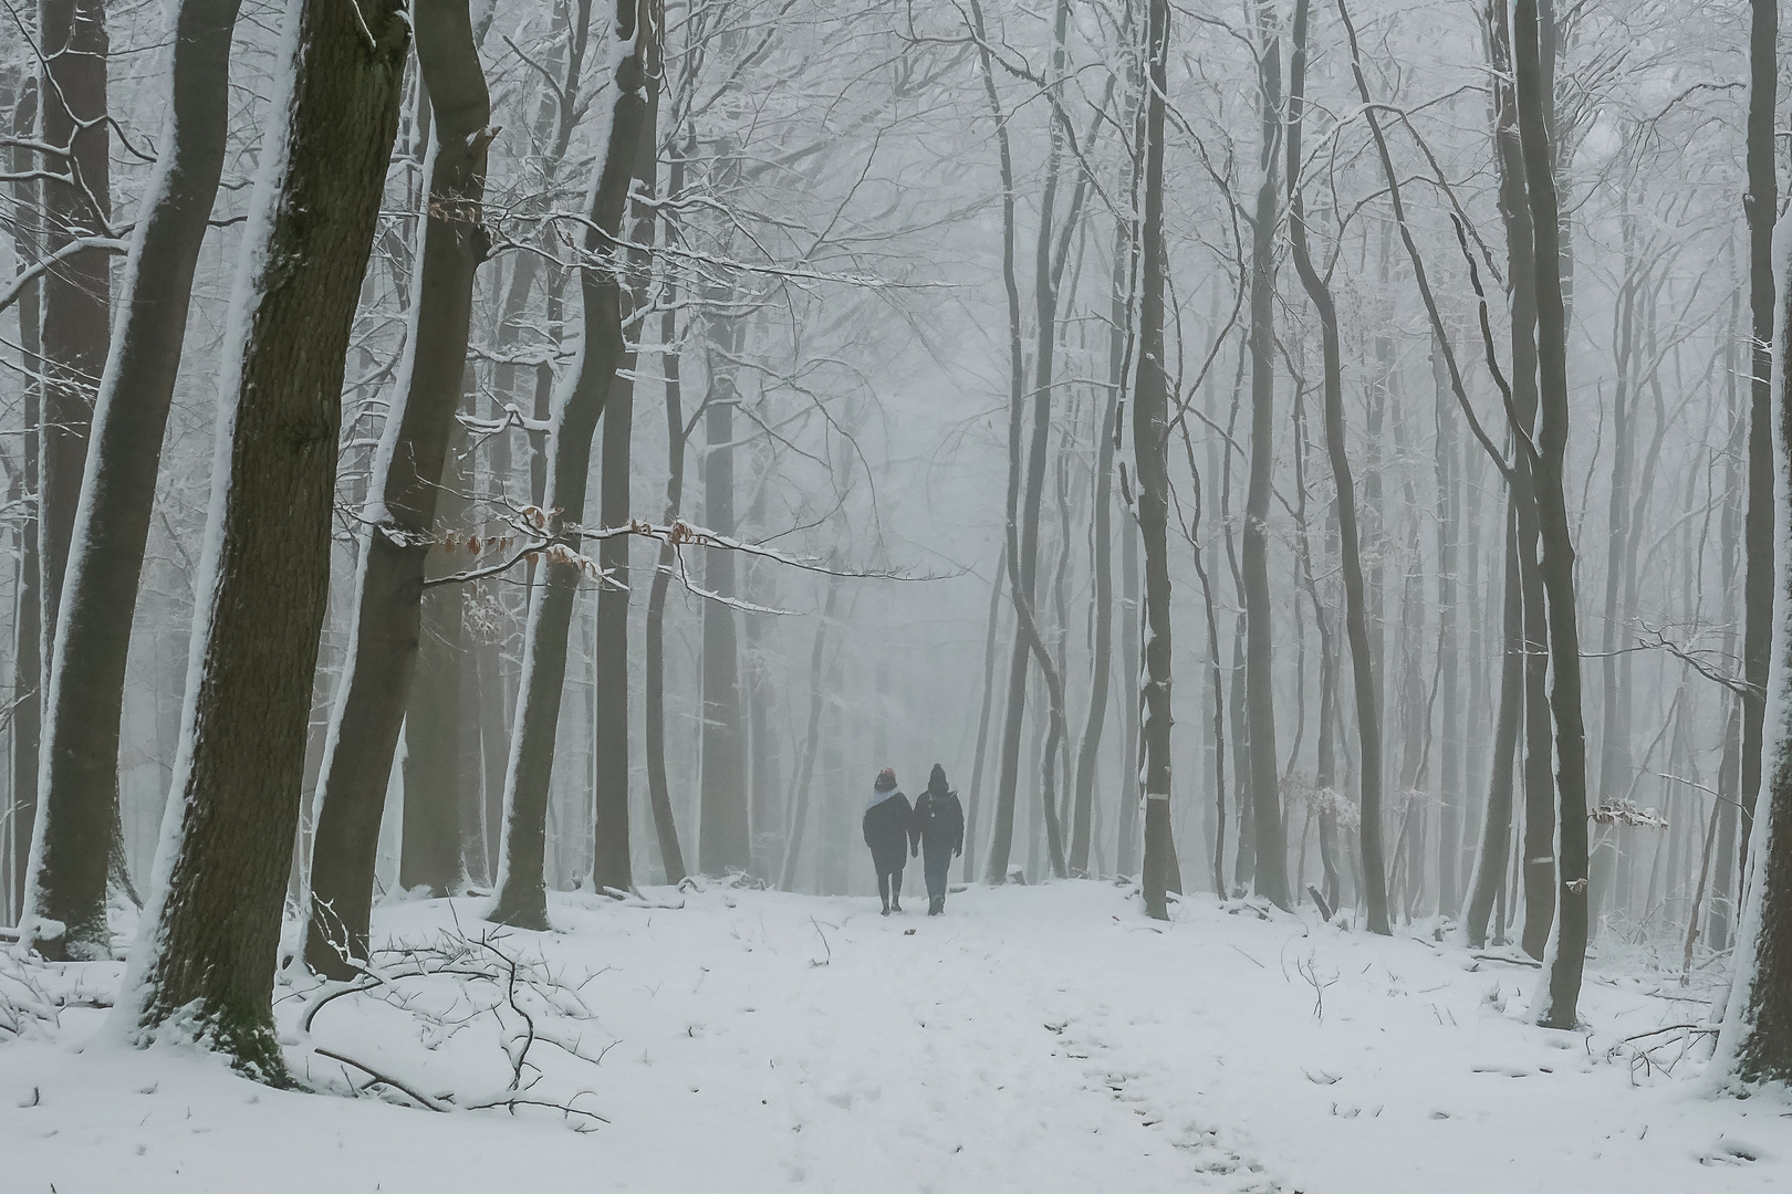
{"type": "MultiPolygon", "coordinates": [[[[1297,0],[1294,9],[1294,47],[1288,63],[1288,159],[1297,161],[1301,127],[1306,116],[1306,20],[1310,0],[1297,0]]],[[[1389,933],[1387,924],[1387,865],[1382,850],[1382,723],[1380,680],[1376,677],[1376,648],[1369,641],[1369,614],[1362,569],[1362,532],[1357,526],[1357,489],[1351,478],[1349,453],[1344,446],[1344,378],[1339,353],[1337,304],[1331,288],[1314,269],[1306,243],[1306,211],[1299,177],[1288,177],[1288,238],[1294,251],[1294,269],[1301,276],[1306,297],[1319,311],[1319,344],[1324,362],[1324,422],[1326,456],[1331,460],[1331,478],[1337,489],[1339,560],[1344,575],[1344,635],[1349,641],[1351,682],[1357,696],[1358,759],[1358,843],[1362,850],[1362,899],[1371,933],[1389,933]]]]}

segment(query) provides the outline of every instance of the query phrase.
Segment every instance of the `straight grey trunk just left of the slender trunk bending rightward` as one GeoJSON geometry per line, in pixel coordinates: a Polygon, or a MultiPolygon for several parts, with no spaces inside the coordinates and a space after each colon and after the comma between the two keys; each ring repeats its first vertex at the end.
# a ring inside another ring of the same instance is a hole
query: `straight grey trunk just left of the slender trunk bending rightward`
{"type": "Polygon", "coordinates": [[[1245,720],[1251,727],[1251,818],[1256,838],[1256,891],[1288,908],[1287,832],[1281,823],[1281,770],[1276,761],[1274,625],[1269,594],[1269,487],[1276,467],[1276,222],[1281,131],[1281,34],[1272,7],[1256,5],[1262,107],[1262,186],[1251,238],[1251,480],[1244,503],[1245,720]]]}

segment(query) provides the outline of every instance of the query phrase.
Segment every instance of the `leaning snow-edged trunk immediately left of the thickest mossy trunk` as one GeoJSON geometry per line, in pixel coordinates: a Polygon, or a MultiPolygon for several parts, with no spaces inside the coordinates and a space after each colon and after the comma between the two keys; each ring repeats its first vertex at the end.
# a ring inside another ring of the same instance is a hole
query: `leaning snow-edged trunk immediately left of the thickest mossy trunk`
{"type": "Polygon", "coordinates": [[[161,154],[142,200],[93,408],[43,707],[43,802],[23,920],[48,958],[111,954],[106,897],[131,618],[194,270],[224,170],[238,4],[181,0],[168,21],[161,154]]]}

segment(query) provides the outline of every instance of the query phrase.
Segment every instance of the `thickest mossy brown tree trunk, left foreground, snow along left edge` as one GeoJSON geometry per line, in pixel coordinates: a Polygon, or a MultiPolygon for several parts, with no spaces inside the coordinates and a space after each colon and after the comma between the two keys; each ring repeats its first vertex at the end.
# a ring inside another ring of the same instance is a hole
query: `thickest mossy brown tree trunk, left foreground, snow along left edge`
{"type": "Polygon", "coordinates": [[[276,1083],[274,958],[330,596],[342,363],[410,30],[396,4],[294,0],[287,21],[224,349],[168,838],[118,1008],[140,1042],[204,1042],[276,1083]]]}

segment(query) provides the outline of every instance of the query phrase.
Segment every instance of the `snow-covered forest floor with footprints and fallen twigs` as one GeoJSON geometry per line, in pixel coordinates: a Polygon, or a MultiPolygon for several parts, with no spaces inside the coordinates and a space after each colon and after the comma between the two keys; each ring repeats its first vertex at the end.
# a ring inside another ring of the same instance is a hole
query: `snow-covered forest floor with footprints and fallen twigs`
{"type": "MultiPolygon", "coordinates": [[[[1586,1031],[1552,1033],[1525,1017],[1536,968],[1416,933],[1344,933],[1310,909],[1190,897],[1158,925],[1107,883],[978,888],[941,918],[909,899],[880,918],[869,899],[740,888],[568,895],[552,908],[559,933],[487,943],[471,900],[389,904],[387,940],[434,945],[382,954],[385,1001],[319,1006],[340,988],[281,986],[294,1072],[323,1094],[258,1087],[190,1051],[125,1049],[91,1008],[0,1044],[0,1189],[1715,1194],[1792,1181],[1792,1101],[1711,1099],[1706,1038],[1638,1038],[1702,1024],[1706,1006],[1634,959],[1595,959],[1586,1031]],[[401,977],[441,965],[475,974],[401,977]],[[448,1113],[396,1104],[407,1097],[319,1047],[448,1113]],[[518,1069],[523,1097],[575,1110],[466,1110],[514,1099],[518,1069]]],[[[36,981],[104,1002],[120,970],[36,981]]]]}

